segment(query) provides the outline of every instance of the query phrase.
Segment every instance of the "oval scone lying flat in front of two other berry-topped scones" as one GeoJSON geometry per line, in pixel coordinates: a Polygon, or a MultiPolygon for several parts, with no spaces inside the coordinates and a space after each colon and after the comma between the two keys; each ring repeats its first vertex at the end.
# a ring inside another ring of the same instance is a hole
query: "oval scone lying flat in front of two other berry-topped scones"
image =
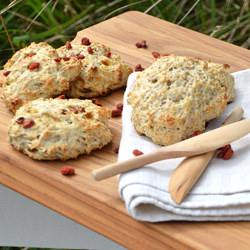
{"type": "Polygon", "coordinates": [[[112,140],[110,111],[79,99],[37,99],[16,112],[8,141],[36,160],[67,160],[112,140]]]}

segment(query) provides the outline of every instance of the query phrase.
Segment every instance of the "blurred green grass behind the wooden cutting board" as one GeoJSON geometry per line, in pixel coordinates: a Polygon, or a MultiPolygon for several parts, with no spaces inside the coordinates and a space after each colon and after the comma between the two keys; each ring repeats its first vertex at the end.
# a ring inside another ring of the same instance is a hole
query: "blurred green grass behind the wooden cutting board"
{"type": "MultiPolygon", "coordinates": [[[[129,10],[138,10],[206,35],[250,48],[250,0],[15,0],[1,1],[2,13],[15,50],[32,41],[58,47],[78,30],[129,10]]],[[[0,22],[0,68],[13,54],[0,22]]]]}

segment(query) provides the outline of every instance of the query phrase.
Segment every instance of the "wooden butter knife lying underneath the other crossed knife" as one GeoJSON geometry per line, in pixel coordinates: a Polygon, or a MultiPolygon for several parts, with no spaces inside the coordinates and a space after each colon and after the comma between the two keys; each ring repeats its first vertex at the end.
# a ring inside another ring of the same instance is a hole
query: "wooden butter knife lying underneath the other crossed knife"
{"type": "MultiPolygon", "coordinates": [[[[243,113],[241,107],[235,108],[222,126],[239,121],[243,113]]],[[[205,154],[187,157],[174,170],[169,182],[169,193],[176,203],[180,204],[183,201],[208,166],[215,152],[216,150],[213,150],[205,154]]]]}

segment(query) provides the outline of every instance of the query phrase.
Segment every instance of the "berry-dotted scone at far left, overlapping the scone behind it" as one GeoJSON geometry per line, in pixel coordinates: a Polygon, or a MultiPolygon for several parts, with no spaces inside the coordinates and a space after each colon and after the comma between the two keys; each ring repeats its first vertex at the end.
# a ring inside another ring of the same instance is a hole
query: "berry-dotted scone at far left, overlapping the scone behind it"
{"type": "Polygon", "coordinates": [[[32,43],[4,66],[2,99],[15,112],[31,100],[55,97],[69,89],[80,68],[77,58],[63,60],[47,43],[32,43]]]}

